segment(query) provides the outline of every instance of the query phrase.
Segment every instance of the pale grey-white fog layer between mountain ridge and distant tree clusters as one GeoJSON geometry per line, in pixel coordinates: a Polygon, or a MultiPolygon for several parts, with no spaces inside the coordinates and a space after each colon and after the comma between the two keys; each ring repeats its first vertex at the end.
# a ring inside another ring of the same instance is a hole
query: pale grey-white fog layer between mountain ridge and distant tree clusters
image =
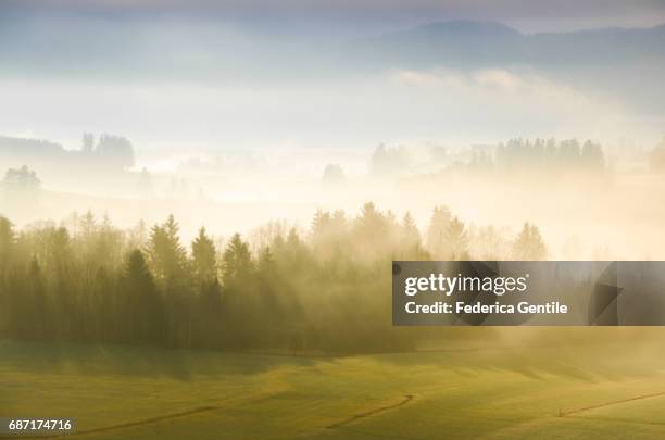
{"type": "Polygon", "coordinates": [[[171,160],[166,152],[368,150],[380,142],[469,144],[514,136],[653,144],[665,131],[663,121],[640,117],[611,96],[506,70],[233,87],[1,80],[0,95],[0,134],[66,148],[78,148],[84,130],[121,134],[146,166],[156,166],[155,156],[171,160]]]}

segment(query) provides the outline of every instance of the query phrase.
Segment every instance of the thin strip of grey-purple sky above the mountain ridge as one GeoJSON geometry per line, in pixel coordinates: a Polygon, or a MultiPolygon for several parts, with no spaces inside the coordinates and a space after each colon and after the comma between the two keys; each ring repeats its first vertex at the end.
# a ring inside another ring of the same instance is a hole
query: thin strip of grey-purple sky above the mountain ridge
{"type": "Polygon", "coordinates": [[[261,24],[334,25],[363,33],[431,21],[498,21],[525,33],[644,27],[665,22],[663,0],[4,0],[0,11],[117,15],[204,14],[261,24]]]}

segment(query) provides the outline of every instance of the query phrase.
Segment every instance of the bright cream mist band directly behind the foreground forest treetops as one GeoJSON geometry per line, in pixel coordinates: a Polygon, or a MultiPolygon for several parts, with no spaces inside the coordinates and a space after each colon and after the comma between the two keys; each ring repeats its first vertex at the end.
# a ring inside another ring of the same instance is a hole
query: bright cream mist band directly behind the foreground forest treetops
{"type": "Polygon", "coordinates": [[[432,210],[446,206],[469,235],[490,227],[510,241],[524,223],[537,225],[549,259],[652,260],[663,252],[665,212],[654,202],[665,185],[663,143],[642,151],[509,139],[457,148],[379,144],[332,155],[290,147],[186,154],[161,166],[141,164],[124,137],[87,134],[83,143],[65,150],[0,138],[8,164],[2,214],[20,229],[43,221],[71,228],[90,212],[127,230],[173,214],[186,240],[205,226],[218,239],[240,232],[252,241],[274,223],[308,237],[317,211],[354,217],[373,202],[398,221],[413,216],[424,242],[432,210]],[[628,238],[626,230],[641,234],[628,238]]]}

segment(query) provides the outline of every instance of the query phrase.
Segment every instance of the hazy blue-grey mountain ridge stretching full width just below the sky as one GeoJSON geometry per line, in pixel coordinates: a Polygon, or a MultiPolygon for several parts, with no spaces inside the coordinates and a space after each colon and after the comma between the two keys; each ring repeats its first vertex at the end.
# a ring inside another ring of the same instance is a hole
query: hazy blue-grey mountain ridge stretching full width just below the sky
{"type": "Polygon", "coordinates": [[[665,24],[523,34],[498,22],[456,20],[351,40],[339,36],[332,43],[310,39],[306,33],[293,40],[292,35],[267,38],[249,29],[235,34],[236,41],[227,34],[202,30],[191,23],[189,27],[176,27],[178,32],[172,36],[172,25],[146,18],[98,23],[79,17],[52,18],[48,26],[37,26],[0,16],[0,76],[66,73],[191,79],[221,74],[251,76],[256,73],[253,71],[265,71],[262,63],[266,62],[272,62],[274,72],[291,66],[289,72],[294,75],[324,68],[335,74],[366,65],[532,63],[538,67],[562,61],[612,65],[644,58],[650,62],[665,59],[665,24]]]}

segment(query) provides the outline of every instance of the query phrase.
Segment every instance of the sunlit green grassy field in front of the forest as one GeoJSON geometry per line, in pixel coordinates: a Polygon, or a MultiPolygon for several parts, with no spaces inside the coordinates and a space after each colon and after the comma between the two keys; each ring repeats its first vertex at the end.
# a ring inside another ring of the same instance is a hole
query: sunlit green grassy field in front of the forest
{"type": "Polygon", "coordinates": [[[89,439],[665,437],[665,344],[457,343],[347,357],[0,341],[0,416],[89,439]]]}

